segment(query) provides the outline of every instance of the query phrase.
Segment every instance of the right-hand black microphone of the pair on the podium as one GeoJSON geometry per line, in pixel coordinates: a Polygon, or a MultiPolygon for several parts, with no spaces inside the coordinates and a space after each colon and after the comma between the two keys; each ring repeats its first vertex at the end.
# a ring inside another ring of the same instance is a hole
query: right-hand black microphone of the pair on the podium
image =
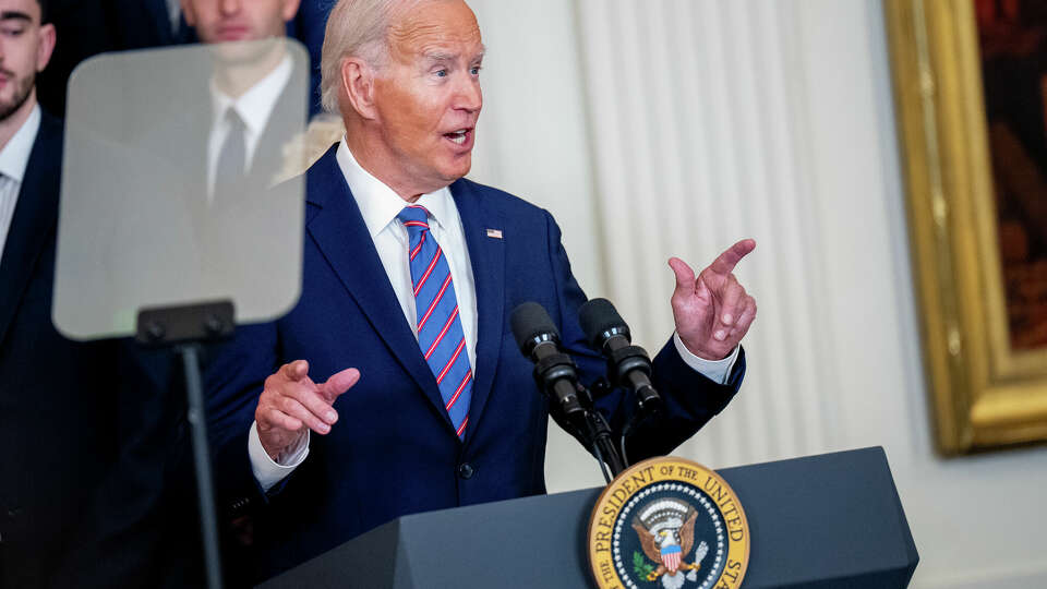
{"type": "Polygon", "coordinates": [[[651,386],[651,359],[647,351],[633,346],[629,326],[606,299],[592,299],[578,311],[581,330],[593,349],[607,358],[607,375],[617,386],[631,388],[640,411],[653,411],[662,398],[651,386]]]}

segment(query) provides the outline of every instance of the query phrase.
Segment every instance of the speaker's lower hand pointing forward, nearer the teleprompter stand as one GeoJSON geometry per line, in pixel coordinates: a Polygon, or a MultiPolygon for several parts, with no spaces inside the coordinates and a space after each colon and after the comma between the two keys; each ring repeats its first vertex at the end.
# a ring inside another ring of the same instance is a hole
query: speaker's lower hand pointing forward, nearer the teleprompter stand
{"type": "Polygon", "coordinates": [[[266,454],[279,462],[309,430],[320,435],[330,432],[330,426],[338,421],[338,412],[332,405],[359,380],[359,370],[346,369],[316,384],[309,377],[305,360],[284,364],[270,374],[254,410],[258,438],[266,454]]]}

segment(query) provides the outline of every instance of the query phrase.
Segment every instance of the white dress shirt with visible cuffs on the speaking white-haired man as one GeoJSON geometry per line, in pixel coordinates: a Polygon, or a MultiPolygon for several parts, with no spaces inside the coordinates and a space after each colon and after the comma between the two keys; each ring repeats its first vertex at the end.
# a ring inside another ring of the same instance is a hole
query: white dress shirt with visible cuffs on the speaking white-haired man
{"type": "MultiPolygon", "coordinates": [[[[414,337],[418,337],[413,281],[408,259],[409,239],[407,228],[396,218],[407,203],[393,189],[360,167],[352,152],[349,151],[345,137],[338,145],[336,157],[349,190],[360,207],[371,239],[374,240],[382,266],[389,277],[400,309],[404,310],[404,317],[414,332],[414,337]]],[[[459,317],[466,336],[466,349],[469,352],[469,362],[476,370],[477,285],[472,276],[469,248],[466,244],[466,233],[461,226],[461,217],[458,215],[458,207],[448,188],[423,194],[414,204],[429,209],[430,230],[450,266],[450,276],[458,297],[459,317]]],[[[738,350],[735,348],[731,356],[723,360],[715,362],[702,360],[690,353],[678,336],[674,335],[673,340],[688,365],[721,384],[725,382],[737,359],[738,350]]],[[[276,462],[262,447],[257,424],[252,424],[248,435],[248,455],[251,458],[251,469],[255,479],[263,489],[268,491],[305,460],[309,455],[309,433],[306,432],[300,443],[286,453],[286,457],[281,457],[280,462],[276,462]]]]}

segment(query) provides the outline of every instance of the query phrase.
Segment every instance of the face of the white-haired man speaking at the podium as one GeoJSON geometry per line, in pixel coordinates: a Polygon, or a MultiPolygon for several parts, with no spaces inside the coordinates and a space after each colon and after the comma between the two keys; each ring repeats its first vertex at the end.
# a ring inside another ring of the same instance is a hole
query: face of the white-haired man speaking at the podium
{"type": "Polygon", "coordinates": [[[461,0],[424,2],[395,19],[374,82],[382,141],[420,193],[466,176],[483,97],[480,27],[461,0]]]}

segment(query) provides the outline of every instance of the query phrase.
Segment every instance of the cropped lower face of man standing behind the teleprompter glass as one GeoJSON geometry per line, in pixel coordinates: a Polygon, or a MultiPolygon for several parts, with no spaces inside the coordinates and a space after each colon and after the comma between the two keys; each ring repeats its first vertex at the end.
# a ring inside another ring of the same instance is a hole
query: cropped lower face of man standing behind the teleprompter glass
{"type": "Polygon", "coordinates": [[[282,37],[298,4],[298,0],[182,0],[182,12],[202,43],[249,41],[282,37]]]}

